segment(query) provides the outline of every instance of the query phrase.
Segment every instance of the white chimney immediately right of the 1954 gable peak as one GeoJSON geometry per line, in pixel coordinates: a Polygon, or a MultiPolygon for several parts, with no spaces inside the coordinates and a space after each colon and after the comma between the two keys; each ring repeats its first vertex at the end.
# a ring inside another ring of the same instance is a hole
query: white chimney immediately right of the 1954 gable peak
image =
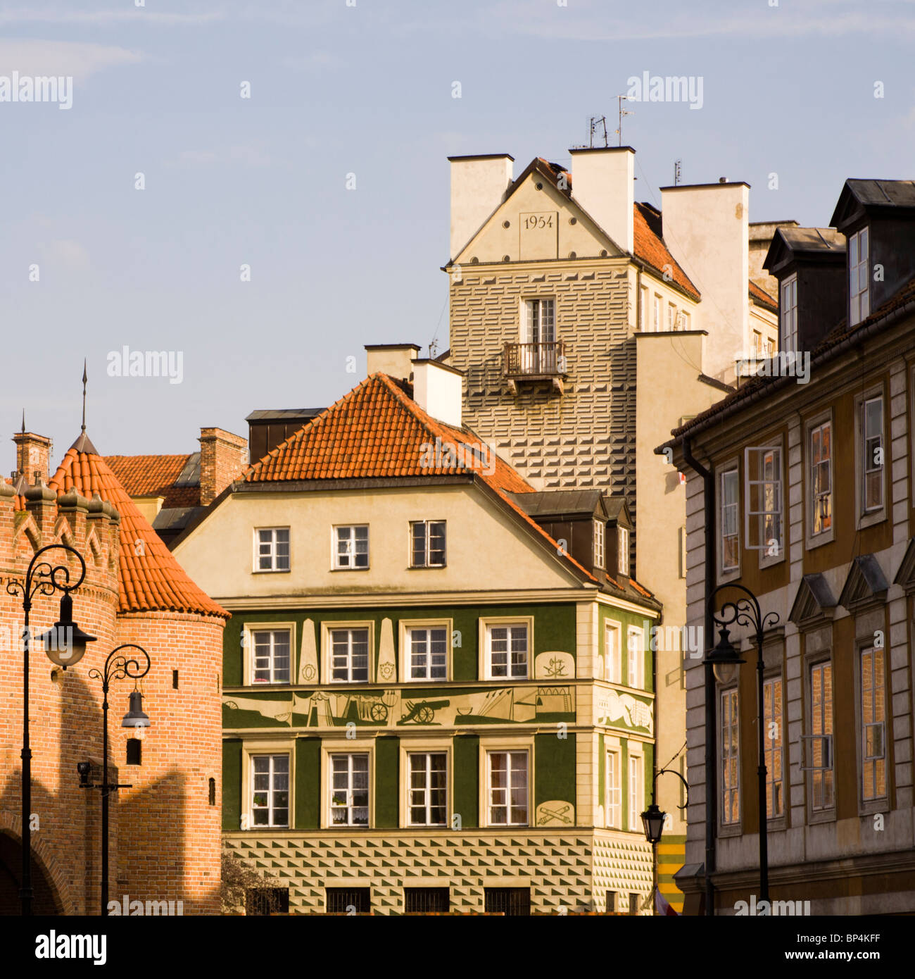
{"type": "Polygon", "coordinates": [[[635,247],[635,150],[631,146],[570,150],[572,197],[625,252],[635,247]]]}

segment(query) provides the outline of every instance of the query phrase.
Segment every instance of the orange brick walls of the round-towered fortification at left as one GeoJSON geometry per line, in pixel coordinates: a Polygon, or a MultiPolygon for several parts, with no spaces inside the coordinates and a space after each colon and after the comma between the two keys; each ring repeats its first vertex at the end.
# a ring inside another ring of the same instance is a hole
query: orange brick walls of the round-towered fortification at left
{"type": "MultiPolygon", "coordinates": [[[[170,612],[118,615],[114,508],[74,492],[55,498],[36,487],[25,508],[17,509],[11,493],[0,486],[0,862],[9,871],[0,885],[0,912],[18,912],[22,859],[23,609],[22,599],[7,593],[7,583],[23,580],[37,547],[63,539],[87,564],[86,579],[73,593],[73,617],[98,641],[66,672],[34,643],[30,655],[35,911],[99,912],[101,794],[79,788],[76,764],[91,761],[92,780],[101,780],[102,683],[89,671],[101,671],[114,646],[136,642],[153,660],[141,681],[153,726],[144,738],[142,766],[127,766],[128,732],[120,722],[133,682],[115,680],[109,695],[110,775],[134,787],[112,799],[109,897],[176,899],[184,902],[185,913],[216,913],[222,620],[170,612]],[[178,689],[172,687],[172,670],[178,670],[178,689]],[[216,779],[215,806],[208,803],[210,777],[216,779]]],[[[48,558],[67,564],[63,550],[48,558]]],[[[78,576],[75,559],[69,569],[78,576]]],[[[60,597],[35,597],[33,634],[57,620],[60,597]]]]}

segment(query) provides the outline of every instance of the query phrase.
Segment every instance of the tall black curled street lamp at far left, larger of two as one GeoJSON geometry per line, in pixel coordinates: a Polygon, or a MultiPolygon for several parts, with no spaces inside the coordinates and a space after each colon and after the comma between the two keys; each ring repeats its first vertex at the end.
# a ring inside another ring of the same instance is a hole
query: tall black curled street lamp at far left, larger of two
{"type": "Polygon", "coordinates": [[[52,663],[66,670],[78,663],[86,651],[87,642],[95,642],[96,637],[83,632],[73,622],[73,600],[69,593],[82,584],[86,577],[86,562],[79,551],[69,544],[48,544],[35,551],[28,569],[25,581],[13,580],[7,583],[7,593],[23,596],[23,880],[20,887],[20,903],[23,915],[31,914],[31,745],[28,736],[28,654],[31,651],[31,635],[28,629],[28,618],[31,612],[32,599],[37,594],[53,595],[55,591],[63,591],[61,598],[61,617],[53,629],[43,636],[45,652],[52,663]],[[65,550],[75,554],[79,559],[79,578],[76,583],[69,583],[69,568],[61,564],[54,567],[49,561],[39,561],[38,558],[49,550],[65,550]],[[60,580],[59,580],[60,579],[60,580]]]}

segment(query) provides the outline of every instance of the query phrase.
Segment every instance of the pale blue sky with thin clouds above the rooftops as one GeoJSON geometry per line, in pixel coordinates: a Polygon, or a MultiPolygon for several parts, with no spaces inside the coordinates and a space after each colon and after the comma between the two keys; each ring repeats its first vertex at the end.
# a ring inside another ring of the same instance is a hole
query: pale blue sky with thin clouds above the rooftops
{"type": "Polygon", "coordinates": [[[822,225],[847,176],[915,177],[913,0],[136,2],[0,6],[0,76],[73,78],[69,110],[0,103],[0,419],[55,461],[83,356],[93,441],[135,454],[329,404],[366,343],[444,350],[446,157],[569,163],[631,75],[704,91],[629,105],[637,200],[680,159],[752,184],[752,221],[822,225]],[[181,351],[182,382],[108,376],[124,345],[181,351]]]}

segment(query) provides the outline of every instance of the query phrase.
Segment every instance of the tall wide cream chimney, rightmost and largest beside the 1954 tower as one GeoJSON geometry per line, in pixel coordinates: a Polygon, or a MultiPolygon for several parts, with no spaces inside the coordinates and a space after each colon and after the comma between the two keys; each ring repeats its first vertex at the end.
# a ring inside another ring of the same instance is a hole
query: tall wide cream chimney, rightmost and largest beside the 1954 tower
{"type": "Polygon", "coordinates": [[[750,184],[661,188],[663,240],[702,293],[706,374],[730,382],[750,344],[750,184]]]}

